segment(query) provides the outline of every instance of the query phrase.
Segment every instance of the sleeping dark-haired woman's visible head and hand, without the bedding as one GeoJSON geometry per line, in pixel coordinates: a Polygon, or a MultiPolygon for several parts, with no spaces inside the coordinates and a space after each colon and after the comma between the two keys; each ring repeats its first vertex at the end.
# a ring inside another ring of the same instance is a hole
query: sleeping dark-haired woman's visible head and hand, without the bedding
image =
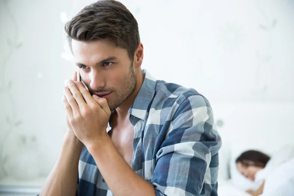
{"type": "MultiPolygon", "coordinates": [[[[258,171],[264,169],[269,162],[270,157],[260,151],[248,150],[243,152],[237,159],[237,168],[246,178],[251,181],[255,180],[255,175],[258,171]]],[[[252,196],[259,196],[263,193],[265,182],[256,191],[246,191],[252,196]]]]}

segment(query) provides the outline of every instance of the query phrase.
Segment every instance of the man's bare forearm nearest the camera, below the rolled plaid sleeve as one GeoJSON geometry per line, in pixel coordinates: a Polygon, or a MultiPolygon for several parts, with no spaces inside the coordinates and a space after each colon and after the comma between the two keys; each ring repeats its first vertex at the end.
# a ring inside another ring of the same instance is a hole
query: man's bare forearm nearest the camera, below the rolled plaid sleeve
{"type": "Polygon", "coordinates": [[[127,165],[109,137],[87,148],[115,196],[155,196],[153,185],[127,165]]]}

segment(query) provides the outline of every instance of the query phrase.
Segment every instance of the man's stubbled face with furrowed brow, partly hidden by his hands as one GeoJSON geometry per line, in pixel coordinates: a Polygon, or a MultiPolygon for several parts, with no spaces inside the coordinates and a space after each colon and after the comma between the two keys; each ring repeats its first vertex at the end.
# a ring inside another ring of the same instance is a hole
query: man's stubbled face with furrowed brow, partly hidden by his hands
{"type": "Polygon", "coordinates": [[[136,87],[136,74],[127,50],[105,40],[72,41],[73,55],[91,95],[106,98],[111,110],[136,87]]]}

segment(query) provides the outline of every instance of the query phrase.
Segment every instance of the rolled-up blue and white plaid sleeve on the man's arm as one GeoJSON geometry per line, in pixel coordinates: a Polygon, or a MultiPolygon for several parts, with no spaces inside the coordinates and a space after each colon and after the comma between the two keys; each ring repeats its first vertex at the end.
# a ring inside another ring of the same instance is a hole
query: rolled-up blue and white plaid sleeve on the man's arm
{"type": "Polygon", "coordinates": [[[178,102],[156,154],[156,196],[217,196],[221,138],[210,104],[200,95],[178,102]]]}

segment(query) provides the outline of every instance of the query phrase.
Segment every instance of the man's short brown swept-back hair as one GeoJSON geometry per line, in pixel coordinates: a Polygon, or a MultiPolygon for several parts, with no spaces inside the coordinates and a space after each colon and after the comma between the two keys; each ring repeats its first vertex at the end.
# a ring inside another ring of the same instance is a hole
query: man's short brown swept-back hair
{"type": "Polygon", "coordinates": [[[131,60],[140,43],[138,23],[119,1],[98,0],[83,8],[65,25],[72,49],[72,40],[91,42],[107,40],[126,49],[131,60]]]}

